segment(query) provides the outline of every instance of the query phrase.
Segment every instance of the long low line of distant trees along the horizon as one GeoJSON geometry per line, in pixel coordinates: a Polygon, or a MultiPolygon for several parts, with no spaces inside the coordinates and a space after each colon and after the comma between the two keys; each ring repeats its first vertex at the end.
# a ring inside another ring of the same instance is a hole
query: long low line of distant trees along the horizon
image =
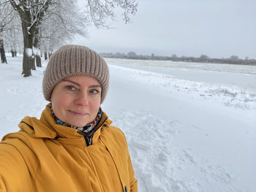
{"type": "Polygon", "coordinates": [[[248,57],[241,59],[237,55],[231,55],[229,58],[210,58],[208,55],[200,55],[200,57],[178,57],[176,54],[171,56],[161,55],[138,55],[133,51],[129,53],[100,53],[105,58],[127,58],[127,59],[141,59],[141,60],[159,60],[159,61],[184,61],[195,63],[209,63],[209,64],[241,64],[256,66],[256,59],[249,59],[248,57]]]}

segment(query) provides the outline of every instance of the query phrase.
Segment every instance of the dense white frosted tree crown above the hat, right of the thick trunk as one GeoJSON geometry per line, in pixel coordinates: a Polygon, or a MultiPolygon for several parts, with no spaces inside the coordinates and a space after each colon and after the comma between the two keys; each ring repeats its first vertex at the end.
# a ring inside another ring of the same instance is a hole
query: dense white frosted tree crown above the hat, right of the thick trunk
{"type": "Polygon", "coordinates": [[[86,37],[90,23],[88,17],[79,11],[75,1],[59,1],[54,7],[49,7],[48,11],[48,18],[42,22],[39,33],[45,59],[49,52],[70,42],[76,34],[86,37]]]}

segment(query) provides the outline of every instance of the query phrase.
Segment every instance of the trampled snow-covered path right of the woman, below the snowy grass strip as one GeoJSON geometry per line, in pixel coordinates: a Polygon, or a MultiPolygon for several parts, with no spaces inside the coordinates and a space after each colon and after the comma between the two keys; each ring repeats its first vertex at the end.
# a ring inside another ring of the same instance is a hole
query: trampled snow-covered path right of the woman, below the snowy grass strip
{"type": "Polygon", "coordinates": [[[140,191],[254,191],[255,110],[110,72],[104,107],[127,134],[140,191]]]}

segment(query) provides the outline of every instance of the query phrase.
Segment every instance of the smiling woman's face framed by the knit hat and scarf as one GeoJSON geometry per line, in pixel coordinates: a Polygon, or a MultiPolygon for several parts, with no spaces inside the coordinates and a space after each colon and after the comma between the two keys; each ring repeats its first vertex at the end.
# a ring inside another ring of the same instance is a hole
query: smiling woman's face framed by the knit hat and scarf
{"type": "Polygon", "coordinates": [[[102,87],[88,75],[73,75],[53,89],[50,101],[57,118],[72,126],[83,127],[97,116],[102,87]]]}

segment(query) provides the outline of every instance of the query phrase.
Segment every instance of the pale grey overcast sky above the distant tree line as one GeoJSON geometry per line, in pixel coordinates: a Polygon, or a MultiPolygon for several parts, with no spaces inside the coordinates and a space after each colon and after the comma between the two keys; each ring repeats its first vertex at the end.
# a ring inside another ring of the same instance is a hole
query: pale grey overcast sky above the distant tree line
{"type": "Polygon", "coordinates": [[[256,58],[256,0],[138,0],[133,23],[89,28],[74,43],[100,53],[256,58]]]}

